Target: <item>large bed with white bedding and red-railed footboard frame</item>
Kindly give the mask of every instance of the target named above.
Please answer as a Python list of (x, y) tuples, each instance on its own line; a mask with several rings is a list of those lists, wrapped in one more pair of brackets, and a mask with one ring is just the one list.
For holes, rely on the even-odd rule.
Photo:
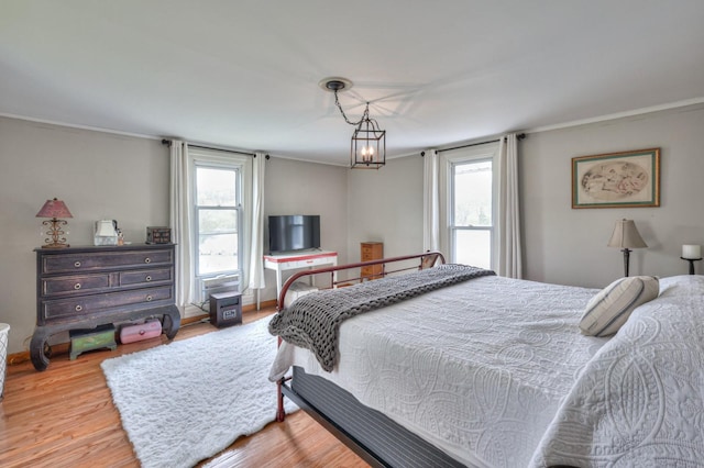
[[(414, 258), (403, 278), (388, 267)], [(375, 281), (400, 282), (448, 268), (429, 258), (315, 274), (382, 263), (391, 275)], [(270, 331), (365, 285), (307, 294)], [(661, 278), (609, 337), (579, 330), (598, 292), (476, 276), (350, 314), (332, 364), (279, 339), (270, 378), (372, 466), (704, 466), (704, 277)]]

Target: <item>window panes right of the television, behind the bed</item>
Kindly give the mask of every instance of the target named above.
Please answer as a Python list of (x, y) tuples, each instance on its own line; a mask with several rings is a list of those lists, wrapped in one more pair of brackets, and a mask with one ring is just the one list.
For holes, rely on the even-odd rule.
[(494, 232), (492, 160), (454, 163), (450, 237), (452, 261), (492, 267)]

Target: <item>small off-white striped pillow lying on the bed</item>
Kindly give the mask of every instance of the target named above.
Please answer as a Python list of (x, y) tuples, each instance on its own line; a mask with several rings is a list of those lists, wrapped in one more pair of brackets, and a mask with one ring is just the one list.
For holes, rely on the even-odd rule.
[(584, 335), (613, 335), (626, 323), (634, 309), (653, 300), (659, 292), (660, 283), (652, 276), (617, 279), (586, 304), (580, 330)]

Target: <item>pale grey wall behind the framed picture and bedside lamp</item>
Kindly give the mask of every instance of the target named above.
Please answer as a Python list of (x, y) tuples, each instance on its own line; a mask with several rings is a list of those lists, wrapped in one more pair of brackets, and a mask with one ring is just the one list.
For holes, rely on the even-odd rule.
[[(623, 276), (623, 254), (606, 246), (622, 218), (648, 244), (630, 254), (631, 276), (686, 274), (682, 244), (704, 245), (702, 130), (704, 107), (695, 105), (529, 134), (519, 153), (526, 277), (603, 287)], [(571, 208), (572, 157), (650, 147), (661, 148), (659, 208)]]

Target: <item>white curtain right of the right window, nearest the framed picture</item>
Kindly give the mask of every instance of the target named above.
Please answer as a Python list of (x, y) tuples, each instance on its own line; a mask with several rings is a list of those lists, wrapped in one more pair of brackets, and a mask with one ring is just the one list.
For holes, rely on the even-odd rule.
[(498, 146), (498, 271), (521, 278), (520, 214), (518, 204), (518, 145), (516, 134), (501, 138)]

